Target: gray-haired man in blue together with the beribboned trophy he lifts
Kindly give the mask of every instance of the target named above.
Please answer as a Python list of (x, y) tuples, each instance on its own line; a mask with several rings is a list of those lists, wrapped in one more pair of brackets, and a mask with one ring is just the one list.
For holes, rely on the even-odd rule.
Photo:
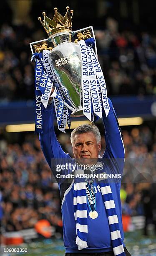
[[(123, 242), (120, 201), (124, 146), (115, 110), (107, 98), (96, 43), (90, 30), (84, 29), (73, 42), (73, 10), (69, 12), (67, 7), (64, 17), (54, 10), (53, 20), (45, 12), (43, 21), (38, 18), (49, 39), (42, 46), (35, 45), (32, 57), (36, 63), (35, 131), (40, 133), (41, 148), (60, 189), (65, 255), (130, 255)], [(101, 118), (106, 140), (103, 157), (98, 155), (100, 132), (96, 125), (88, 124), (71, 133), (74, 159), (65, 154), (55, 135), (54, 110), (62, 132), (66, 123), (70, 128), (70, 116), (85, 115), (90, 121)], [(57, 163), (60, 169), (63, 166), (59, 178)], [(116, 181), (105, 174), (113, 174)]]

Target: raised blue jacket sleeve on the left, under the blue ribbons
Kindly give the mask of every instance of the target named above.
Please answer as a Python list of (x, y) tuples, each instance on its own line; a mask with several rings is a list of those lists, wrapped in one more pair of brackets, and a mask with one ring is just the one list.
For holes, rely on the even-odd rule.
[[(69, 154), (66, 154), (58, 142), (54, 131), (54, 115), (53, 107), (48, 106), (43, 109), (43, 133), (40, 133), (40, 145), (49, 166), (55, 172), (55, 168), (51, 166), (52, 159), (71, 159)], [(54, 173), (55, 176), (55, 173)]]

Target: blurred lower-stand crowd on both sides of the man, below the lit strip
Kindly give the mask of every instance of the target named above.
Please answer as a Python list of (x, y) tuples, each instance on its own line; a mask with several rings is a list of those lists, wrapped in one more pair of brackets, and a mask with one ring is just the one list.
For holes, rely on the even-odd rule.
[[(124, 130), (123, 136), (126, 150), (121, 186), (123, 214), (147, 215), (147, 223), (152, 222), (156, 211), (156, 131), (152, 133), (143, 126)], [(63, 150), (73, 156), (70, 133), (61, 133), (58, 141)], [(102, 156), (104, 136), (101, 144)], [(21, 145), (0, 141), (0, 216), (5, 230), (33, 228), (41, 219), (48, 220), (60, 230), (60, 195), (58, 185), (51, 181), (54, 180), (38, 136), (26, 135)]]

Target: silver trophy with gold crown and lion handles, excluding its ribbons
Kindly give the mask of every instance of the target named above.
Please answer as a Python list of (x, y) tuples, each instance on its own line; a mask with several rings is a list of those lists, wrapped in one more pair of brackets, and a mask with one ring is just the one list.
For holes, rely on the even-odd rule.
[[(49, 64), (55, 74), (64, 104), (72, 110), (71, 117), (79, 117), (83, 115), (83, 106), (81, 51), (78, 41), (94, 37), (94, 33), (92, 26), (72, 32), (73, 10), (69, 12), (69, 7), (66, 9), (67, 12), (63, 17), (58, 13), (58, 9), (55, 8), (53, 20), (48, 18), (45, 12), (43, 12), (44, 20), (41, 21), (40, 17), (38, 20), (40, 20), (45, 28), (49, 38), (44, 41), (30, 43), (30, 47), (33, 53), (33, 46), (36, 52), (50, 50), (48, 54)], [(36, 43), (42, 43), (42, 45)]]

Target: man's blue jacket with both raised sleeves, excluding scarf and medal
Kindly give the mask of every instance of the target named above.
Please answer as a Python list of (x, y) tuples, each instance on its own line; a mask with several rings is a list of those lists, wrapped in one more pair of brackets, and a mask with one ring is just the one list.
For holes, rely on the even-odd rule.
[[(118, 126), (116, 113), (113, 109), (113, 105), (109, 100), (110, 111), (106, 117), (103, 113), (103, 124), (105, 127), (105, 140), (106, 150), (102, 159), (120, 159), (113, 164), (108, 164), (109, 172), (123, 173), (124, 163), (124, 146), (121, 136), (121, 131)], [(73, 162), (74, 160), (66, 154), (61, 148), (54, 131), (53, 125), (53, 107), (48, 106), (47, 110), (43, 110), (43, 133), (40, 133), (40, 144), (43, 150), (45, 159), (47, 160), (50, 168), (52, 167), (53, 174), (56, 176), (56, 169), (51, 166), (51, 159), (64, 159), (64, 161)], [(113, 162), (113, 161), (112, 161)], [(98, 212), (98, 218), (88, 218), (88, 248), (83, 249), (81, 253), (94, 253), (112, 251), (111, 236), (108, 224), (108, 217), (106, 215), (105, 205), (103, 203), (102, 195), (97, 184), (95, 185), (96, 193), (96, 211)], [(118, 215), (119, 228), (121, 233), (121, 240), (123, 242), (123, 226), (121, 219), (121, 200), (120, 200), (120, 182), (110, 183), (113, 200), (116, 205), (116, 212)], [(80, 253), (78, 246), (75, 244), (76, 240), (76, 228), (74, 219), (74, 206), (73, 206), (73, 192), (74, 184), (72, 180), (70, 183), (59, 182), (60, 196), (62, 202), (62, 219), (63, 219), (63, 237), (66, 253)], [(88, 213), (90, 208), (88, 207)], [(124, 243), (123, 243), (123, 246)]]

